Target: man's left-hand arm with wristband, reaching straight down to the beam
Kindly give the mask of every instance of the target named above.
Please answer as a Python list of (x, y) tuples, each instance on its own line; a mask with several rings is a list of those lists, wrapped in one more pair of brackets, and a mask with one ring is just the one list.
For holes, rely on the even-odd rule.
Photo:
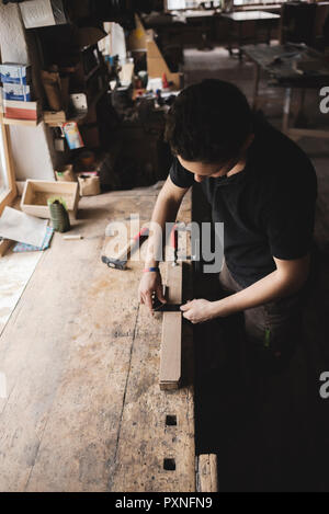
[[(188, 191), (189, 187), (178, 187), (168, 176), (159, 193), (151, 217), (145, 269), (158, 266), (157, 252), (164, 243), (166, 224), (175, 221), (178, 210)], [(159, 227), (161, 230), (152, 230), (152, 227)], [(139, 284), (138, 297), (140, 304), (147, 305), (150, 311), (152, 311), (152, 293), (156, 293), (159, 300), (164, 301), (161, 275), (157, 272), (144, 273)]]

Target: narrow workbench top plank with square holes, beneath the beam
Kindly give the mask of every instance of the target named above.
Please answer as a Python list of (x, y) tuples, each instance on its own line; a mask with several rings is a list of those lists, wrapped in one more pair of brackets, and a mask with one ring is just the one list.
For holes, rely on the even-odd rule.
[(157, 323), (140, 308), (111, 491), (195, 492), (193, 331), (183, 327), (182, 386), (163, 395), (158, 386), (162, 315), (155, 318)]

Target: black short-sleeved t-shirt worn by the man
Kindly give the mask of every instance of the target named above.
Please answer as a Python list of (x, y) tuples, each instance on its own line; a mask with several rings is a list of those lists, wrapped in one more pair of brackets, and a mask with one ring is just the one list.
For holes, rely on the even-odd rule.
[[(317, 180), (307, 156), (264, 121), (254, 122), (245, 170), (202, 183), (213, 221), (224, 222), (224, 253), (234, 278), (247, 287), (282, 260), (306, 255), (313, 245)], [(174, 159), (172, 182), (190, 187), (194, 175)]]

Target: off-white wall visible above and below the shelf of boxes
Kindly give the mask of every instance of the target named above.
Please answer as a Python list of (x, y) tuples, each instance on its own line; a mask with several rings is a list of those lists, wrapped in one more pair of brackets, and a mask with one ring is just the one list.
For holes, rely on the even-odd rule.
[[(31, 62), (18, 4), (0, 3), (0, 49), (2, 62)], [(44, 123), (37, 127), (10, 126), (10, 138), (16, 180), (54, 179), (53, 137)]]

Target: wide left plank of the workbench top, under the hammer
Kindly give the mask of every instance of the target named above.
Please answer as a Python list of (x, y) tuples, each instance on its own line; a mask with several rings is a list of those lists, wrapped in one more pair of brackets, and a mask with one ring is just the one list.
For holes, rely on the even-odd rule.
[(137, 262), (109, 270), (101, 248), (109, 218), (133, 207), (149, 215), (149, 199), (83, 198), (76, 230), (84, 239), (55, 235), (5, 327), (1, 491), (107, 491), (140, 274)]

